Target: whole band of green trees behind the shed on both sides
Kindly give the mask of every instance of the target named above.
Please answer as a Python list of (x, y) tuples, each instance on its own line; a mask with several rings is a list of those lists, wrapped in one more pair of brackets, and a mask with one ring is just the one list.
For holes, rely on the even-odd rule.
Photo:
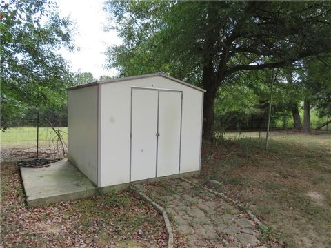
[[(123, 40), (107, 49), (108, 68), (203, 87), (205, 138), (220, 123), (263, 123), (273, 70), (273, 116), (297, 130), (309, 129), (310, 110), (331, 116), (328, 1), (106, 1), (104, 10)], [(66, 88), (95, 80), (57, 52), (74, 50), (72, 35), (54, 3), (1, 2), (1, 129), (37, 110), (66, 125)]]

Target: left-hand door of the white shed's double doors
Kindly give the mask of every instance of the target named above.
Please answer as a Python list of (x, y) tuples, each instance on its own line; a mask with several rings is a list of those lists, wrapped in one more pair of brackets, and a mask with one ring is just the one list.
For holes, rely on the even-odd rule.
[(157, 90), (132, 89), (131, 181), (156, 175), (157, 102)]

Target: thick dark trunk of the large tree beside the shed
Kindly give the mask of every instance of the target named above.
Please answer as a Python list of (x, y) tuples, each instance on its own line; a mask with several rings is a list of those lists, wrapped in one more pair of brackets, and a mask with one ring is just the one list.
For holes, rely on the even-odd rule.
[(211, 64), (203, 68), (202, 84), (206, 90), (203, 96), (203, 138), (210, 141), (214, 136), (214, 106), (218, 89)]

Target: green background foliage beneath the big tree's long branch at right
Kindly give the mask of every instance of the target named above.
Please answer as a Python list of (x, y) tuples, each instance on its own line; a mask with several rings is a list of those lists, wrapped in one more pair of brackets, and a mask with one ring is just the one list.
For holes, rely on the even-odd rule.
[[(326, 57), (328, 58), (328, 57)], [(310, 59), (303, 68), (278, 69), (272, 97), (272, 125), (293, 127), (292, 107), (299, 113), (302, 101), (310, 99), (310, 125), (317, 127), (331, 115), (331, 63), (326, 58)], [(322, 62), (323, 61), (323, 62)], [(217, 130), (260, 127), (268, 120), (271, 70), (241, 72), (231, 84), (219, 89), (215, 103), (215, 127)], [(303, 121), (301, 119), (301, 121)]]

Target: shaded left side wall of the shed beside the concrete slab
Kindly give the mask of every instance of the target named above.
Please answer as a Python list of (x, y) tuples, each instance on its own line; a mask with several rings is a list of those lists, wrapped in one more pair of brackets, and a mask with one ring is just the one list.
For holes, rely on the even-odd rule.
[(98, 86), (68, 91), (68, 160), (97, 185)]

